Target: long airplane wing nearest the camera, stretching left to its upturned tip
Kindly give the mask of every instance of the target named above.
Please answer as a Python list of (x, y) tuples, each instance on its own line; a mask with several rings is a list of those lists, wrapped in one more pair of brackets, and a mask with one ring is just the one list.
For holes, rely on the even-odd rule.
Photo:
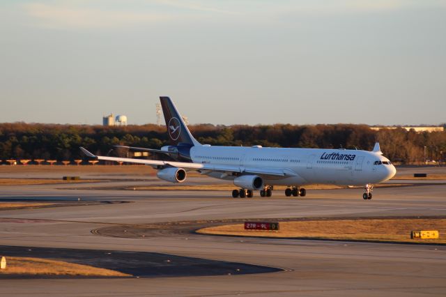
[(154, 168), (160, 167), (181, 167), (183, 169), (190, 170), (200, 170), (203, 172), (226, 172), (226, 173), (251, 173), (251, 174), (259, 174), (261, 176), (275, 176), (276, 178), (280, 177), (288, 177), (288, 176), (296, 176), (294, 172), (291, 172), (289, 169), (278, 169), (278, 168), (243, 168), (229, 165), (213, 165), (213, 164), (201, 164), (201, 163), (190, 163), (190, 162), (175, 162), (175, 161), (161, 161), (161, 160), (144, 160), (144, 159), (133, 159), (133, 158), (117, 158), (117, 157), (107, 157), (103, 155), (93, 155), (85, 148), (81, 147), (82, 153), (84, 153), (89, 158), (95, 158), (97, 160), (106, 160), (106, 161), (116, 161), (116, 162), (128, 162), (134, 164), (144, 164), (150, 165)]

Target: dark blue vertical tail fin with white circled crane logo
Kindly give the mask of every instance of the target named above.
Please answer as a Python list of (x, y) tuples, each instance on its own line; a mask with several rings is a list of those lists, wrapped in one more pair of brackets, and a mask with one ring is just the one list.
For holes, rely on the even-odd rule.
[(164, 120), (166, 121), (167, 132), (171, 139), (171, 144), (189, 144), (190, 146), (199, 146), (200, 143), (190, 134), (189, 129), (181, 118), (174, 102), (169, 97), (160, 97)]

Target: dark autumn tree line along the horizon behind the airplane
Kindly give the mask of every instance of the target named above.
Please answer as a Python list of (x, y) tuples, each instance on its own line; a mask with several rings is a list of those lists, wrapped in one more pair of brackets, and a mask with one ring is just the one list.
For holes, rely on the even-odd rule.
[[(381, 151), (393, 162), (411, 164), (444, 160), (446, 132), (415, 132), (403, 128), (371, 130), (367, 125), (190, 125), (202, 144), (300, 148), (357, 148)], [(82, 158), (79, 146), (96, 154), (116, 154), (115, 145), (160, 148), (169, 145), (164, 125), (56, 125), (0, 123), (0, 159)], [(426, 148), (424, 148), (426, 146)]]

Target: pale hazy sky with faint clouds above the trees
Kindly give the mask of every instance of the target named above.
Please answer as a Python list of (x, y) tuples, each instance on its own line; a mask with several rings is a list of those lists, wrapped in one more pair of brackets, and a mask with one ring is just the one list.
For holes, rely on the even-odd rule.
[(0, 122), (446, 122), (446, 0), (3, 0), (0, 36)]

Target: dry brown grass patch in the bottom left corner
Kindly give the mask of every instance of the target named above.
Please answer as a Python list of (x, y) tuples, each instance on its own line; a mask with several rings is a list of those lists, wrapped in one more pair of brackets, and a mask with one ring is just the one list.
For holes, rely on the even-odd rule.
[(93, 266), (73, 264), (40, 258), (6, 257), (6, 269), (2, 274), (13, 275), (90, 275), (90, 276), (131, 276), (118, 271)]

